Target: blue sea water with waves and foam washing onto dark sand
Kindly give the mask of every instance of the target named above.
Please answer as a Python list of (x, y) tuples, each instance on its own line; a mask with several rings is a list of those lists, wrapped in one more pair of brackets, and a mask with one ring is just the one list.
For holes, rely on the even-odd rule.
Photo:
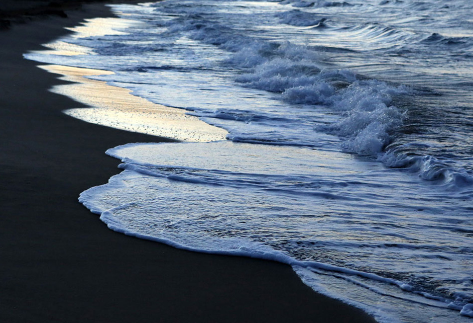
[(114, 72), (90, 78), (228, 135), (107, 151), (123, 171), (80, 201), (109, 228), (287, 263), (379, 322), (471, 322), (473, 2), (112, 8), (60, 40), (80, 55), (25, 57)]

